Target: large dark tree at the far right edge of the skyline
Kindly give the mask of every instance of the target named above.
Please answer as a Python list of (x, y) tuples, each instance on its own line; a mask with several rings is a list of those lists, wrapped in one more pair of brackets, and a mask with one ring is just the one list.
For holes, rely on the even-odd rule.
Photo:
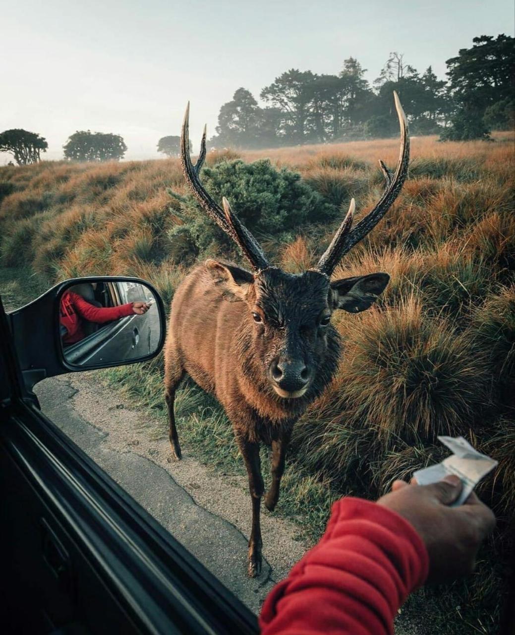
[(450, 122), (452, 130), (445, 131), (443, 140), (488, 137), (486, 109), (514, 95), (514, 44), (515, 38), (504, 34), (495, 39), (474, 37), (472, 48), (462, 48), (457, 57), (447, 60), (450, 95), (457, 108)]

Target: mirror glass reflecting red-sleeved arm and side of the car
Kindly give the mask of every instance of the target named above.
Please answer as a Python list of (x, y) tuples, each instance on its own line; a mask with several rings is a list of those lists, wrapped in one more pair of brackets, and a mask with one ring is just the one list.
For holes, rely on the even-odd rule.
[(140, 282), (84, 281), (60, 299), (63, 355), (74, 366), (139, 359), (155, 352), (161, 324), (152, 291)]

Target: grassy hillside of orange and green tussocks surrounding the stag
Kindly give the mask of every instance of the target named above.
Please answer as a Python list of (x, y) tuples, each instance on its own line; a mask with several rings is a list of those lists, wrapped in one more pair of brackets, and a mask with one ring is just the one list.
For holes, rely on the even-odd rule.
[[(207, 164), (222, 166), (220, 178), (232, 165), (223, 162), (239, 156), (214, 153)], [(306, 213), (298, 231), (280, 236), (261, 227), (267, 253), (288, 271), (315, 264), (339, 224), (340, 206), (346, 210), (355, 196), (358, 218), (367, 213), (382, 189), (377, 159), (394, 166), (397, 156), (396, 140), (242, 153), (245, 162), (270, 157), (274, 166), (297, 171), (329, 210), (323, 219)], [(377, 497), (394, 478), (441, 460), (438, 434), (462, 434), (497, 458), (499, 468), (480, 494), (499, 526), (478, 572), (452, 592), (424, 590), (405, 608), (426, 612), (427, 632), (495, 632), (499, 584), (507, 575), (515, 509), (513, 174), (513, 138), (506, 134), (495, 143), (412, 140), (401, 195), (335, 273), (386, 271), (391, 283), (376, 308), (334, 318), (345, 355), (334, 383), (297, 424), (279, 503), (316, 537), (334, 498)], [(28, 266), (49, 281), (141, 276), (169, 302), (196, 258), (225, 253), (216, 239), (196, 251), (180, 243), (198, 223), (186, 194), (174, 159), (0, 168), (2, 263)], [(152, 433), (166, 434), (162, 360), (105, 375), (160, 413), (162, 427)], [(179, 409), (184, 450), (225, 470), (242, 469), (212, 399), (186, 384)]]

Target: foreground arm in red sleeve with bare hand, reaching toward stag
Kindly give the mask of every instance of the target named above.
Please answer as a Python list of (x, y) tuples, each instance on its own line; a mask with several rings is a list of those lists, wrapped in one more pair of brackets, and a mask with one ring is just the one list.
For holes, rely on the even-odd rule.
[(377, 503), (334, 504), (318, 545), (266, 598), (262, 635), (391, 634), (398, 608), (428, 574), (442, 582), (473, 568), (492, 512), (475, 495), (448, 507), (459, 484), (401, 483)]

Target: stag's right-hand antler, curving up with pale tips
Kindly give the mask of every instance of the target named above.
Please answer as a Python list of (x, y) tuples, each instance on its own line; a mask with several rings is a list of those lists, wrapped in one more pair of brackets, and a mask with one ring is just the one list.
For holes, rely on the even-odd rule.
[(351, 231), (352, 215), (355, 208), (354, 199), (352, 199), (346, 217), (332, 239), (331, 244), (323, 253), (322, 258), (320, 258), (315, 267), (317, 271), (320, 271), (326, 276), (330, 276), (332, 274), (342, 256), (348, 253), (348, 251), (350, 251), (356, 243), (359, 243), (360, 240), (367, 236), (368, 232), (374, 229), (375, 225), (377, 225), (381, 218), (386, 214), (391, 204), (398, 196), (407, 177), (408, 163), (410, 161), (408, 122), (406, 115), (404, 114), (404, 110), (402, 109), (401, 102), (399, 101), (398, 95), (395, 91), (393, 91), (393, 97), (401, 128), (401, 150), (397, 168), (393, 177), (391, 177), (384, 163), (379, 161), (382, 173), (386, 179), (386, 189), (374, 209), (370, 211), (370, 213), (368, 213), (367, 216), (365, 216), (365, 218), (356, 225), (355, 229)]

